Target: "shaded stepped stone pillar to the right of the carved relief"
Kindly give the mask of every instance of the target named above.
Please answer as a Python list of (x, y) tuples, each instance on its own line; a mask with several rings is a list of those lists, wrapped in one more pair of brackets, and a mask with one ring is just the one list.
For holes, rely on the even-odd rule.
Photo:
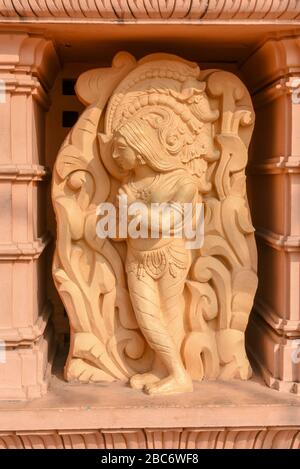
[(269, 386), (300, 393), (300, 37), (270, 38), (242, 72), (256, 111), (248, 177), (259, 288), (249, 352)]

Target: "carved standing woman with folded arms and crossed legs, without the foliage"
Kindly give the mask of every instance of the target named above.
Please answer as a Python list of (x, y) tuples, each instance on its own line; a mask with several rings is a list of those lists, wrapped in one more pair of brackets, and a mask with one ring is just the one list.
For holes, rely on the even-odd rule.
[[(143, 202), (151, 217), (151, 204), (195, 205), (196, 181), (187, 169), (167, 155), (156, 132), (143, 119), (132, 119), (114, 136), (113, 158), (130, 172), (120, 195), (129, 204)], [(183, 238), (162, 236), (163, 214), (159, 213), (159, 237), (127, 239), (128, 288), (139, 328), (155, 353), (152, 370), (130, 379), (134, 388), (149, 394), (192, 390), (192, 381), (180, 355), (184, 337), (183, 289), (190, 267), (190, 252)], [(174, 224), (174, 220), (173, 220)], [(150, 230), (149, 230), (150, 231)]]

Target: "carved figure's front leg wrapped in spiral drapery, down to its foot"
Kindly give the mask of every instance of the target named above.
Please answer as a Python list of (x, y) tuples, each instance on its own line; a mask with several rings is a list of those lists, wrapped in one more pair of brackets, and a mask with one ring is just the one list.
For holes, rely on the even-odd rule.
[[(138, 279), (134, 273), (129, 273), (128, 285), (141, 332), (168, 372), (166, 378), (154, 384), (145, 384), (145, 391), (149, 394), (192, 391), (192, 381), (184, 369), (178, 347), (166, 327), (157, 282), (146, 274)], [(152, 380), (150, 376), (147, 376), (148, 379)]]

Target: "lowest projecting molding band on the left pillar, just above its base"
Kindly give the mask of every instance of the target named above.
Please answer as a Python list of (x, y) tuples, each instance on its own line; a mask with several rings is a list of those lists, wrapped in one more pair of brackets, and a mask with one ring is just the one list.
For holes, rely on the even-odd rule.
[(35, 324), (28, 325), (27, 327), (0, 328), (0, 339), (5, 341), (6, 347), (30, 345), (44, 334), (52, 311), (52, 304), (50, 301), (47, 301)]

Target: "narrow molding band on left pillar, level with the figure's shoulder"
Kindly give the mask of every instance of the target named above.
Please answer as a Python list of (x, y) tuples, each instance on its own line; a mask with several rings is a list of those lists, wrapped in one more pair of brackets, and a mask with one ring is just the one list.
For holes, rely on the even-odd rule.
[(37, 164), (2, 164), (0, 180), (6, 181), (42, 181), (49, 176), (46, 166)]

